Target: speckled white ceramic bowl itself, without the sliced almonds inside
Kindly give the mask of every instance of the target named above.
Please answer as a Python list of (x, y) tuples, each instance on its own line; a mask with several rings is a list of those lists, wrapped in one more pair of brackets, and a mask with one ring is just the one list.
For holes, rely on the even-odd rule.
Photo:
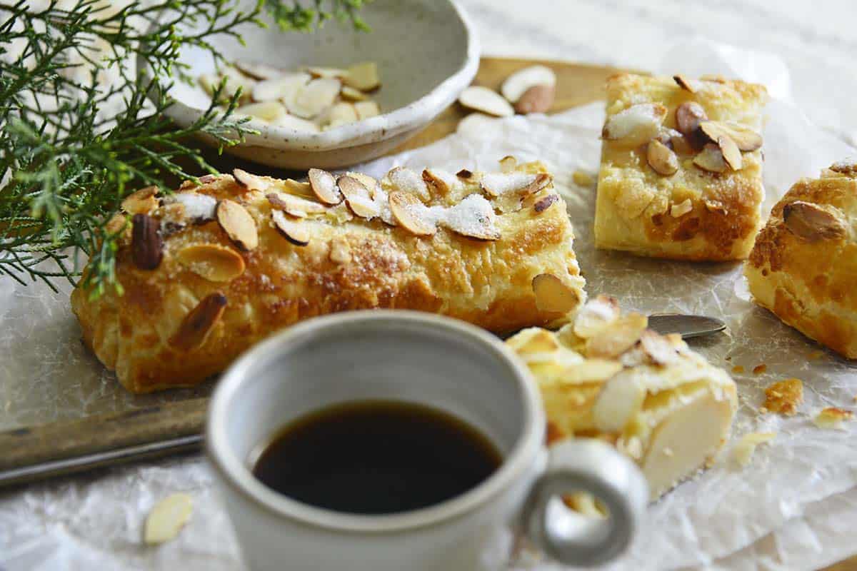
[[(375, 0), (361, 13), (372, 28), (356, 32), (328, 21), (316, 33), (281, 33), (276, 26), (243, 28), (247, 45), (230, 38), (213, 44), (232, 61), (261, 62), (293, 69), (303, 65), (345, 68), (377, 62), (381, 89), (373, 95), (381, 116), (322, 133), (254, 123), (249, 134), (227, 147), (238, 157), (288, 169), (339, 168), (390, 152), (425, 127), (470, 84), (479, 66), (479, 46), (470, 22), (452, 0)], [(207, 52), (185, 49), (180, 60), (193, 77), (212, 73)], [(210, 98), (199, 86), (177, 83), (167, 115), (186, 126), (201, 115)]]

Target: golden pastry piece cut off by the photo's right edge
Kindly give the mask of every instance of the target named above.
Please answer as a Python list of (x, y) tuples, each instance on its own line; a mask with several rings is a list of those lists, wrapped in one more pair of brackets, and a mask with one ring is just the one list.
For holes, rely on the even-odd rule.
[(744, 273), (758, 305), (857, 359), (857, 160), (797, 181), (770, 212)]

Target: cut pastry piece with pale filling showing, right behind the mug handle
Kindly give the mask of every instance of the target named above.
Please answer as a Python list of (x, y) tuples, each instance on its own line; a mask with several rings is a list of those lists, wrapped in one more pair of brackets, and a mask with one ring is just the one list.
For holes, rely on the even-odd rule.
[(548, 415), (548, 443), (592, 437), (637, 461), (660, 497), (706, 466), (726, 441), (735, 384), (678, 335), (590, 300), (557, 333), (530, 328), (506, 343), (530, 367)]

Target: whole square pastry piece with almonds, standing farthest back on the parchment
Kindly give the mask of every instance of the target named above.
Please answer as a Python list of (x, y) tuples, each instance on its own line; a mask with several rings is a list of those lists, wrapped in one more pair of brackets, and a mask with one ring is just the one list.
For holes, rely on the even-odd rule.
[(680, 75), (607, 83), (596, 247), (744, 259), (761, 225), (764, 86)]

